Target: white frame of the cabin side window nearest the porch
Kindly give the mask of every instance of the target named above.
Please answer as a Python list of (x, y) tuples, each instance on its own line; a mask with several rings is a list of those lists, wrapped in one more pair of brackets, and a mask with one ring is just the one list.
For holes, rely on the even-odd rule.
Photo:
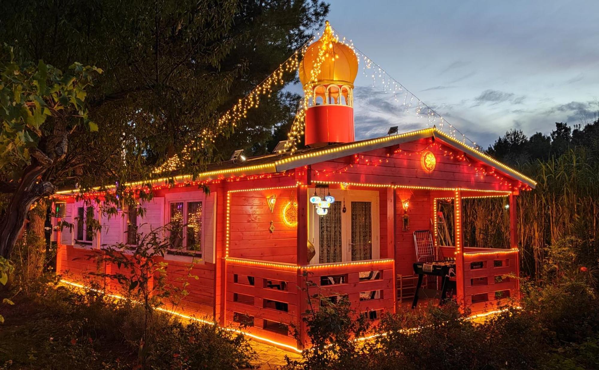
[[(170, 193), (165, 195), (165, 212), (164, 212), (164, 225), (167, 225), (168, 223), (171, 222), (171, 203), (183, 203), (183, 225), (186, 224), (186, 218), (187, 218), (187, 204), (191, 203), (191, 202), (201, 202), (202, 203), (202, 230), (201, 230), (201, 251), (197, 252), (197, 251), (186, 251), (186, 248), (183, 248), (181, 250), (177, 250), (175, 248), (169, 248), (169, 252), (168, 255), (170, 256), (169, 259), (174, 259), (174, 260), (188, 260), (189, 258), (193, 258), (194, 260), (197, 259), (204, 259), (204, 255), (205, 255), (205, 248), (206, 246), (204, 245), (204, 232), (205, 232), (205, 220), (206, 220), (206, 212), (205, 212), (205, 203), (206, 203), (206, 196), (204, 194), (204, 192), (201, 191), (197, 191), (197, 192), (180, 192), (180, 193)], [(214, 215), (213, 215), (214, 217)], [(215, 222), (216, 223), (216, 222)], [(187, 226), (183, 227), (183, 245), (186, 244), (187, 242)], [(167, 235), (167, 238), (170, 238), (170, 232), (169, 235)], [(173, 253), (173, 252), (177, 252), (177, 253)]]

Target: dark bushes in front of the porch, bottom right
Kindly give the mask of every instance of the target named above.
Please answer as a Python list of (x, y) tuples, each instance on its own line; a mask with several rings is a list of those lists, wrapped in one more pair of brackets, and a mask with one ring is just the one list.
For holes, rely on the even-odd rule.
[[(374, 339), (354, 341), (365, 326), (349, 302), (326, 301), (305, 320), (317, 344), (304, 369), (595, 369), (599, 368), (599, 299), (589, 242), (564, 238), (547, 247), (537, 281), (522, 280), (523, 298), (484, 319), (467, 319), (455, 302), (386, 314)], [(512, 302), (506, 302), (512, 303)]]

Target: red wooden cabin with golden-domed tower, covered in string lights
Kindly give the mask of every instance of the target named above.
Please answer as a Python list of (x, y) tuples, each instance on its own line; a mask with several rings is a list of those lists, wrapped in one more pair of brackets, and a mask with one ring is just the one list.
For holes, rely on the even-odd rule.
[[(436, 128), (354, 141), (353, 51), (332, 43), (340, 56), (335, 65), (325, 61), (312, 80), (305, 74), (327, 41), (312, 44), (299, 68), (304, 89), (313, 94), (307, 148), (214, 163), (194, 180), (175, 177), (174, 185), (153, 180), (144, 217), (122, 210), (108, 218), (97, 204), (59, 192), (63, 219), (75, 225), (56, 232), (63, 278), (83, 281), (90, 271), (117, 271), (86, 256), (102, 253), (103, 245), (134, 243), (131, 225), (147, 232), (179, 223), (180, 231), (168, 236), (168, 278), (198, 278), (188, 280), (189, 295), (175, 309), (222, 326), (244, 323), (257, 338), (301, 349), (309, 345), (302, 316), (318, 307), (308, 292), (345, 295), (356, 313), (373, 320), (385, 311), (409, 310), (398, 302), (400, 288), (415, 276), (414, 232), (429, 231), (435, 257), (455, 259), (454, 298), (464, 310), (482, 313), (500, 296), (517, 299), (518, 281), (501, 277), (518, 274), (515, 199), (535, 182)], [(509, 199), (510, 247), (464, 247), (462, 199), (498, 196)], [(453, 204), (452, 246), (440, 245), (438, 235), (438, 202), (447, 199)], [(100, 232), (88, 233), (87, 207), (94, 207)], [(119, 290), (115, 281), (103, 283), (108, 292)], [(298, 339), (291, 326), (300, 328)]]

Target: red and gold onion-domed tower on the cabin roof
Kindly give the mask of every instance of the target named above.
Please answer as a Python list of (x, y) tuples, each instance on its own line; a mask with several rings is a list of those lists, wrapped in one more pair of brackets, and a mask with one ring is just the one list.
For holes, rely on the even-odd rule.
[(305, 145), (354, 141), (353, 81), (357, 74), (356, 54), (334, 37), (326, 21), (322, 37), (308, 46), (299, 63), (299, 80), (307, 98)]

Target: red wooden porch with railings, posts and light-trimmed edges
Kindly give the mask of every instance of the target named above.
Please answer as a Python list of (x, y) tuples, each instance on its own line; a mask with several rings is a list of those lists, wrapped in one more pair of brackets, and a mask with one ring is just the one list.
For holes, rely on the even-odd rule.
[[(510, 222), (515, 222), (513, 192), (333, 183), (328, 184), (326, 191), (334, 195), (335, 202), (340, 202), (337, 210), (341, 210), (342, 219), (347, 212), (354, 217), (346, 217), (338, 225), (322, 221), (331, 214), (314, 217), (314, 205), (309, 201), (318, 192), (314, 186), (300, 184), (259, 189), (258, 193), (253, 190), (228, 193), (223, 324), (243, 326), (246, 332), (286, 347), (304, 348), (309, 343), (302, 317), (307, 310), (318, 310), (320, 305), (314, 295), (332, 299), (346, 296), (356, 314), (365, 315), (373, 323), (384, 312), (410, 309), (401, 304), (412, 301), (412, 297), (407, 299), (404, 295), (402, 279), (417, 276), (413, 264), (419, 256), (413, 231), (423, 229), (431, 232), (434, 260), (455, 260), (453, 296), (464, 310), (482, 313), (496, 307), (500, 299), (518, 298), (518, 281), (505, 277), (518, 275), (517, 248), (463, 247), (461, 235), (462, 198), (505, 197), (511, 206)], [(268, 199), (276, 199), (273, 208)], [(440, 245), (440, 199), (451, 199), (453, 204), (452, 244), (455, 245)], [(352, 213), (352, 202), (370, 202), (370, 205)], [(295, 223), (286, 219), (290, 203), (292, 207), (297, 205)], [(369, 210), (366, 213), (365, 208)], [(358, 214), (360, 217), (367, 214), (369, 220), (356, 221)], [(367, 253), (352, 250), (357, 244), (352, 241), (358, 233), (352, 233), (351, 225), (356, 223), (371, 225)], [(321, 226), (326, 226), (326, 232)], [(332, 232), (340, 236), (332, 238)], [(334, 249), (329, 243), (331, 239), (337, 241), (334, 247), (338, 253), (331, 253)], [(516, 245), (515, 240), (515, 235), (510, 235), (510, 243), (514, 242), (510, 245)], [(313, 252), (304, 247), (310, 244), (314, 246)], [(331, 258), (337, 260), (331, 262)], [(431, 282), (429, 287), (434, 289)]]

